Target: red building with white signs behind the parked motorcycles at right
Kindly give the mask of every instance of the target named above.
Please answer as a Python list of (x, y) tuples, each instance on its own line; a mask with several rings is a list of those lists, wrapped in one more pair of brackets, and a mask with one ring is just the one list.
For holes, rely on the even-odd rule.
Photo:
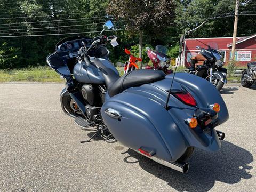
[[(186, 39), (185, 49), (183, 48), (185, 66), (190, 66), (190, 58), (198, 54), (199, 51), (196, 50), (196, 46), (207, 48), (209, 42), (218, 44), (219, 50), (223, 55), (223, 61), (227, 63), (231, 58), (232, 41), (232, 37)], [(239, 62), (240, 66), (247, 65), (250, 61), (256, 61), (256, 34), (250, 37), (237, 37), (235, 60)]]

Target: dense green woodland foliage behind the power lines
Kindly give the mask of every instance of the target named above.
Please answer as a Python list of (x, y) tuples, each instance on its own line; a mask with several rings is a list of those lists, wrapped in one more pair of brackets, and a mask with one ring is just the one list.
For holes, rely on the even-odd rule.
[[(255, 1), (241, 0), (240, 13), (256, 11)], [(71, 35), (13, 37), (15, 35), (41, 35), (81, 33), (94, 37), (108, 18), (113, 15), (117, 29), (125, 31), (106, 35), (118, 36), (119, 46), (111, 47), (110, 60), (125, 62), (128, 57), (125, 47), (139, 53), (139, 33), (143, 31), (143, 44), (155, 47), (158, 44), (169, 47), (171, 58), (178, 56), (179, 37), (184, 29), (193, 29), (205, 18), (234, 14), (234, 0), (0, 0), (0, 68), (12, 69), (31, 66), (45, 66), (45, 58), (54, 52), (55, 44)], [(93, 17), (94, 19), (87, 19)], [(8, 19), (7, 19), (8, 18)], [(84, 18), (84, 19), (81, 19)], [(71, 19), (71, 20), (70, 20)], [(73, 20), (79, 19), (79, 20)], [(49, 22), (65, 20), (58, 22)], [(255, 34), (256, 16), (239, 15), (238, 36)], [(233, 17), (209, 19), (204, 26), (187, 35), (187, 38), (227, 37), (233, 34)], [(73, 26), (74, 25), (74, 26)], [(71, 26), (71, 27), (70, 27)], [(7, 43), (6, 43), (7, 42)], [(144, 63), (149, 61), (142, 51)]]

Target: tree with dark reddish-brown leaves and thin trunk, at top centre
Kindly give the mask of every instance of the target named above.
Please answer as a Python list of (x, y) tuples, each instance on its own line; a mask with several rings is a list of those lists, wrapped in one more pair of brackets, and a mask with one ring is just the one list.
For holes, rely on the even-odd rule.
[(124, 20), (131, 34), (139, 33), (139, 57), (142, 57), (143, 34), (164, 33), (162, 28), (174, 19), (175, 6), (174, 0), (110, 0), (107, 13)]

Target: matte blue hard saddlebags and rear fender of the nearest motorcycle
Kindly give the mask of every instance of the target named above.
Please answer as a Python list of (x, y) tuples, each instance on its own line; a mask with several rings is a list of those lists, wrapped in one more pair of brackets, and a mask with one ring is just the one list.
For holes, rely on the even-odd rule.
[(201, 127), (191, 129), (185, 123), (197, 108), (207, 108), (213, 103), (221, 106), (218, 124), (227, 121), (228, 110), (219, 91), (201, 77), (177, 73), (172, 89), (189, 91), (197, 107), (188, 106), (171, 95), (170, 109), (166, 110), (166, 90), (170, 89), (172, 78), (173, 74), (170, 74), (161, 81), (131, 87), (108, 97), (101, 115), (110, 132), (125, 146), (134, 150), (146, 148), (153, 151), (155, 157), (168, 162), (177, 161), (190, 146), (207, 151), (220, 149), (215, 129), (204, 133)]

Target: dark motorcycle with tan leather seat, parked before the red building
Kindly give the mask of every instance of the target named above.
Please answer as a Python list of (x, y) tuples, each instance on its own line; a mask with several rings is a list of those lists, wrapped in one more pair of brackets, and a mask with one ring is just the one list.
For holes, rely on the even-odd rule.
[(224, 83), (227, 83), (227, 69), (222, 67), (224, 62), (217, 43), (210, 42), (208, 49), (199, 46), (196, 49), (200, 52), (199, 55), (191, 57), (192, 66), (189, 68), (189, 73), (207, 79), (221, 90)]

